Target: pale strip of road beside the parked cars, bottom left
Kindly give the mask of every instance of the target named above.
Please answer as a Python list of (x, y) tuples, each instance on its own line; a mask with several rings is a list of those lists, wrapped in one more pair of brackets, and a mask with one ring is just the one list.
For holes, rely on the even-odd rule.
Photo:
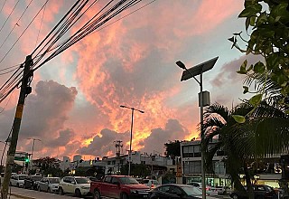
[[(23, 188), (18, 188), (18, 187), (11, 187), (11, 195), (14, 197), (12, 198), (27, 198), (27, 199), (64, 199), (64, 198), (74, 198), (73, 195), (60, 195), (60, 194), (51, 194), (51, 193), (46, 193), (46, 192), (39, 192), (39, 191), (34, 191), (34, 190), (29, 190), (29, 189), (23, 189)], [(18, 197), (17, 197), (18, 196)], [(22, 196), (22, 197), (21, 197)], [(86, 199), (91, 199), (92, 197), (81, 197), (81, 198), (86, 198)]]

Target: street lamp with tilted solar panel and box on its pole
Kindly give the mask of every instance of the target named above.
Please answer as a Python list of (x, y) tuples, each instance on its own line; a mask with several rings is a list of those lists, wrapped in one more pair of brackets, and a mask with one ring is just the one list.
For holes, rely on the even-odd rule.
[[(201, 152), (201, 184), (202, 184), (202, 199), (206, 199), (206, 182), (205, 182), (205, 169), (204, 169), (204, 162), (205, 162), (205, 154), (204, 154), (204, 148), (202, 147), (202, 139), (204, 137), (203, 132), (203, 107), (206, 105), (210, 105), (210, 96), (208, 91), (202, 91), (202, 73), (205, 71), (210, 71), (215, 63), (217, 62), (219, 57), (215, 57), (207, 62), (202, 62), (194, 67), (191, 67), (190, 69), (187, 69), (184, 63), (181, 61), (175, 62), (180, 68), (182, 68), (184, 71), (182, 72), (182, 79), (181, 81), (186, 81), (191, 78), (193, 78), (195, 81), (197, 81), (200, 85), (200, 93), (199, 93), (199, 107), (200, 107), (200, 152)], [(196, 79), (196, 75), (200, 75), (200, 81)], [(208, 101), (204, 101), (208, 100)], [(209, 103), (207, 103), (209, 102)]]

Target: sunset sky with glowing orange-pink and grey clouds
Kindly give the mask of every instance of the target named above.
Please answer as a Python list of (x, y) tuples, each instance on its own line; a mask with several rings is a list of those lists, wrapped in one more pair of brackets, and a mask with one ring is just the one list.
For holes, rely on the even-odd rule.
[[(75, 1), (48, 1), (25, 33), (46, 1), (17, 2), (0, 2), (0, 70), (24, 62)], [(99, 0), (69, 34), (106, 2)], [(144, 0), (125, 14), (149, 2)], [(122, 140), (126, 154), (131, 110), (120, 105), (144, 110), (135, 112), (133, 150), (163, 154), (169, 140), (198, 137), (200, 87), (193, 79), (181, 82), (182, 69), (175, 62), (181, 60), (191, 68), (219, 56), (203, 75), (211, 103), (230, 109), (247, 98), (242, 94), (243, 77), (236, 71), (245, 59), (256, 62), (256, 58), (245, 57), (228, 42), (233, 33), (244, 32), (244, 20), (238, 19), (243, 4), (243, 0), (156, 0), (85, 37), (34, 72), (17, 150), (31, 153), (33, 142), (27, 138), (34, 137), (42, 140), (35, 141), (34, 157), (80, 154), (89, 159), (115, 156), (114, 141)], [(0, 75), (1, 85), (11, 74)], [(0, 140), (10, 132), (18, 96), (15, 90), (0, 104)]]

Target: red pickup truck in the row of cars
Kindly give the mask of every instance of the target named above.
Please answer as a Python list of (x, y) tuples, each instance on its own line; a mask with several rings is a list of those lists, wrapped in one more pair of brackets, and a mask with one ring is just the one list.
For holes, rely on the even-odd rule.
[(128, 175), (107, 175), (101, 181), (90, 183), (90, 193), (95, 199), (110, 197), (119, 199), (148, 198), (150, 188), (139, 184)]

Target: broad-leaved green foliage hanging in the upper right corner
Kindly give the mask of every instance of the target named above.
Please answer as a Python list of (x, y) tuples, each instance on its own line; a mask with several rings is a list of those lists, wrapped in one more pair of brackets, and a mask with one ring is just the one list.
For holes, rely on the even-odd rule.
[[(256, 107), (261, 100), (270, 96), (272, 92), (266, 88), (275, 85), (281, 98), (280, 104), (289, 113), (289, 5), (287, 0), (245, 0), (245, 8), (238, 15), (246, 18), (246, 31), (249, 40), (245, 40), (241, 33), (234, 33), (228, 40), (232, 48), (237, 48), (246, 54), (261, 55), (264, 62), (247, 65), (247, 61), (240, 66), (238, 73), (247, 75), (249, 82), (256, 82), (255, 95), (248, 100)], [(246, 49), (238, 45), (238, 39), (247, 44)], [(260, 78), (263, 80), (260, 81)], [(268, 81), (270, 82), (268, 84)], [(244, 93), (249, 92), (248, 85), (244, 86)], [(271, 90), (272, 91), (272, 90)], [(274, 92), (275, 93), (275, 92)], [(251, 112), (248, 113), (248, 115)], [(245, 117), (236, 116), (236, 121), (244, 123)]]

